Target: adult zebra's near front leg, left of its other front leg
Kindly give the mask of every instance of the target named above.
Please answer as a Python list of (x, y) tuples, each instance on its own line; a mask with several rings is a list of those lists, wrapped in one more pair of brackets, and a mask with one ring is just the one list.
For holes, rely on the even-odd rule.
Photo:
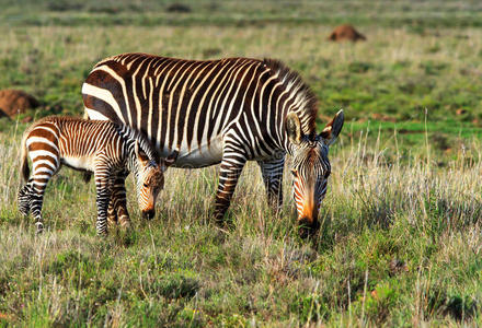
[(241, 172), (246, 163), (246, 157), (242, 152), (226, 152), (219, 172), (219, 185), (216, 192), (215, 220), (218, 224), (222, 224), (226, 211), (231, 202), (234, 194), (236, 185)]

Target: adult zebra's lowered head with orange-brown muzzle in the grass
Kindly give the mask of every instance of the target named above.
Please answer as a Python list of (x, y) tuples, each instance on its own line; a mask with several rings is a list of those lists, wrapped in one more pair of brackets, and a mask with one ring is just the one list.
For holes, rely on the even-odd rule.
[(286, 131), (292, 155), (292, 194), (301, 236), (319, 229), (318, 213), (331, 173), (329, 148), (340, 134), (343, 121), (343, 110), (340, 110), (320, 134), (307, 136), (302, 132), (300, 118), (296, 113), (289, 113), (286, 117)]

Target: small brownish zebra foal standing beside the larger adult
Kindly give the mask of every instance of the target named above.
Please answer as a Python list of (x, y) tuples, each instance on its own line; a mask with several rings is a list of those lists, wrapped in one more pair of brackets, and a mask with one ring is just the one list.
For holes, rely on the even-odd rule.
[[(107, 209), (116, 179), (134, 173), (142, 216), (152, 218), (156, 198), (164, 185), (163, 173), (176, 157), (173, 153), (160, 160), (149, 141), (127, 126), (59, 116), (34, 122), (23, 134), (21, 148), (21, 171), (26, 185), (19, 191), (19, 211), (25, 215), (32, 212), (37, 233), (44, 227), (42, 206), (45, 188), (62, 164), (93, 172), (96, 231), (99, 235), (105, 235)], [(33, 166), (30, 178), (28, 156)], [(120, 223), (128, 226), (128, 215), (125, 219)]]

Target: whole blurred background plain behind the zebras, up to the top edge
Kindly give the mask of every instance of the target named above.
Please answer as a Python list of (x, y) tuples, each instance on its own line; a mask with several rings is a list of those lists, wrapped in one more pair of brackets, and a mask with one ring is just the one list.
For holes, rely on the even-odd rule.
[[(41, 101), (26, 116), (81, 114), (89, 71), (119, 52), (273, 57), (314, 90), (320, 125), (344, 108), (352, 133), (399, 131), (410, 148), (428, 131), (440, 151), (482, 136), (480, 1), (1, 2), (0, 89)], [(367, 40), (329, 42), (343, 23)]]

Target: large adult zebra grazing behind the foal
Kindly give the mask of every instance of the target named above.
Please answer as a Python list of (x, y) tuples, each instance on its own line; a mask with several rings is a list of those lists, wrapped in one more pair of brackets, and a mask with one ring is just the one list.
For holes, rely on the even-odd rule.
[[(96, 63), (82, 95), (89, 118), (145, 132), (161, 155), (179, 152), (174, 166), (220, 163), (218, 221), (246, 161), (257, 161), (268, 200), (278, 208), (285, 154), (289, 153), (298, 220), (309, 229), (318, 227), (331, 169), (329, 147), (343, 127), (343, 110), (317, 134), (314, 95), (280, 61), (197, 61), (124, 54)], [(123, 186), (122, 181), (116, 185)]]

